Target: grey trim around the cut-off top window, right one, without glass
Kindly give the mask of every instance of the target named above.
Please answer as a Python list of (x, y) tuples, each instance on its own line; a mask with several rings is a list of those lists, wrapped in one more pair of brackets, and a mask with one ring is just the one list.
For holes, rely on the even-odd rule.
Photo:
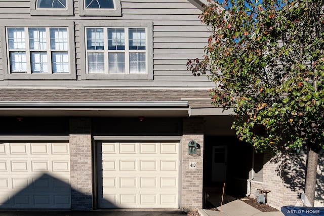
[(85, 0), (78, 0), (79, 16), (121, 16), (120, 0), (113, 0), (114, 9), (85, 9)]

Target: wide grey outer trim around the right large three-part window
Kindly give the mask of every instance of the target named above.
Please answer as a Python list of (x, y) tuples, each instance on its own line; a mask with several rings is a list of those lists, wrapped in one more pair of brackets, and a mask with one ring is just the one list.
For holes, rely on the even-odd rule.
[[(147, 74), (88, 74), (86, 63), (86, 28), (146, 28), (147, 29)], [(153, 80), (153, 23), (150, 21), (84, 21), (79, 24), (80, 68), (82, 80)]]

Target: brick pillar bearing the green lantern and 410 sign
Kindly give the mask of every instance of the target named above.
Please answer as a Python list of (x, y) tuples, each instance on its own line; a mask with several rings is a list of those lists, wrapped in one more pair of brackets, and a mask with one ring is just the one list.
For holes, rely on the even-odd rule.
[[(182, 210), (189, 211), (203, 207), (203, 118), (185, 118), (182, 135)], [(200, 156), (188, 155), (188, 143), (196, 141), (200, 145)], [(189, 163), (195, 162), (195, 168)]]

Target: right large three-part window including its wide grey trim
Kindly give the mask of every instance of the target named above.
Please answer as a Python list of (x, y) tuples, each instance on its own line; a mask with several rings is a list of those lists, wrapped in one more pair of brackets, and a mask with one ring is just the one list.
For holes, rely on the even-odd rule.
[(79, 29), (85, 59), (80, 61), (81, 79), (153, 79), (152, 22), (89, 20), (80, 22)]

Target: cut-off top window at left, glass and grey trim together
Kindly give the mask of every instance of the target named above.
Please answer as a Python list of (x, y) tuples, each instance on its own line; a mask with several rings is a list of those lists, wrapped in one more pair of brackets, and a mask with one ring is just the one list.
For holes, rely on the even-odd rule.
[(30, 14), (42, 16), (72, 16), (72, 0), (31, 0)]

